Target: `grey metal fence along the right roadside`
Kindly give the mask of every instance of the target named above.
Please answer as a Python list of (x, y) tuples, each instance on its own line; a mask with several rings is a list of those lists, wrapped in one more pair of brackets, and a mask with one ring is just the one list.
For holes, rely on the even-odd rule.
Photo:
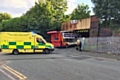
[(83, 50), (120, 54), (120, 37), (85, 38)]

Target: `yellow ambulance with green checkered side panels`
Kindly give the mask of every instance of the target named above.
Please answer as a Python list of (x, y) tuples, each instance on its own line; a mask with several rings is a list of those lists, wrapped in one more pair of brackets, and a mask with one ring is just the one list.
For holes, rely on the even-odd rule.
[(51, 53), (54, 46), (33, 32), (0, 32), (0, 51), (2, 53)]

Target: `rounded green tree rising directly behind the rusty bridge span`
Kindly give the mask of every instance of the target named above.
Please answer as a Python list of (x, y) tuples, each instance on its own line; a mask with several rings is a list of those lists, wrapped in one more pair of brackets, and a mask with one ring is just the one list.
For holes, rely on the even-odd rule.
[(79, 4), (71, 14), (71, 20), (81, 20), (90, 17), (90, 10), (88, 5)]

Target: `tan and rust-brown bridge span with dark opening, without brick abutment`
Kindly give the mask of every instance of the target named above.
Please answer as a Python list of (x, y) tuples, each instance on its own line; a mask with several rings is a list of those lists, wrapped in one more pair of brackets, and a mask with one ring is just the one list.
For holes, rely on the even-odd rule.
[(72, 20), (71, 22), (62, 23), (62, 31), (72, 31), (78, 36), (89, 37), (90, 18), (82, 20)]

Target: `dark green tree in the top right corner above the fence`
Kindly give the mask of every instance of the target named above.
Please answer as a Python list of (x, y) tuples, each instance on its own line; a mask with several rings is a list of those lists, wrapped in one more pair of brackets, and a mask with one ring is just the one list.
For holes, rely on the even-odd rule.
[(91, 0), (94, 13), (100, 19), (101, 26), (118, 28), (120, 26), (120, 0)]

